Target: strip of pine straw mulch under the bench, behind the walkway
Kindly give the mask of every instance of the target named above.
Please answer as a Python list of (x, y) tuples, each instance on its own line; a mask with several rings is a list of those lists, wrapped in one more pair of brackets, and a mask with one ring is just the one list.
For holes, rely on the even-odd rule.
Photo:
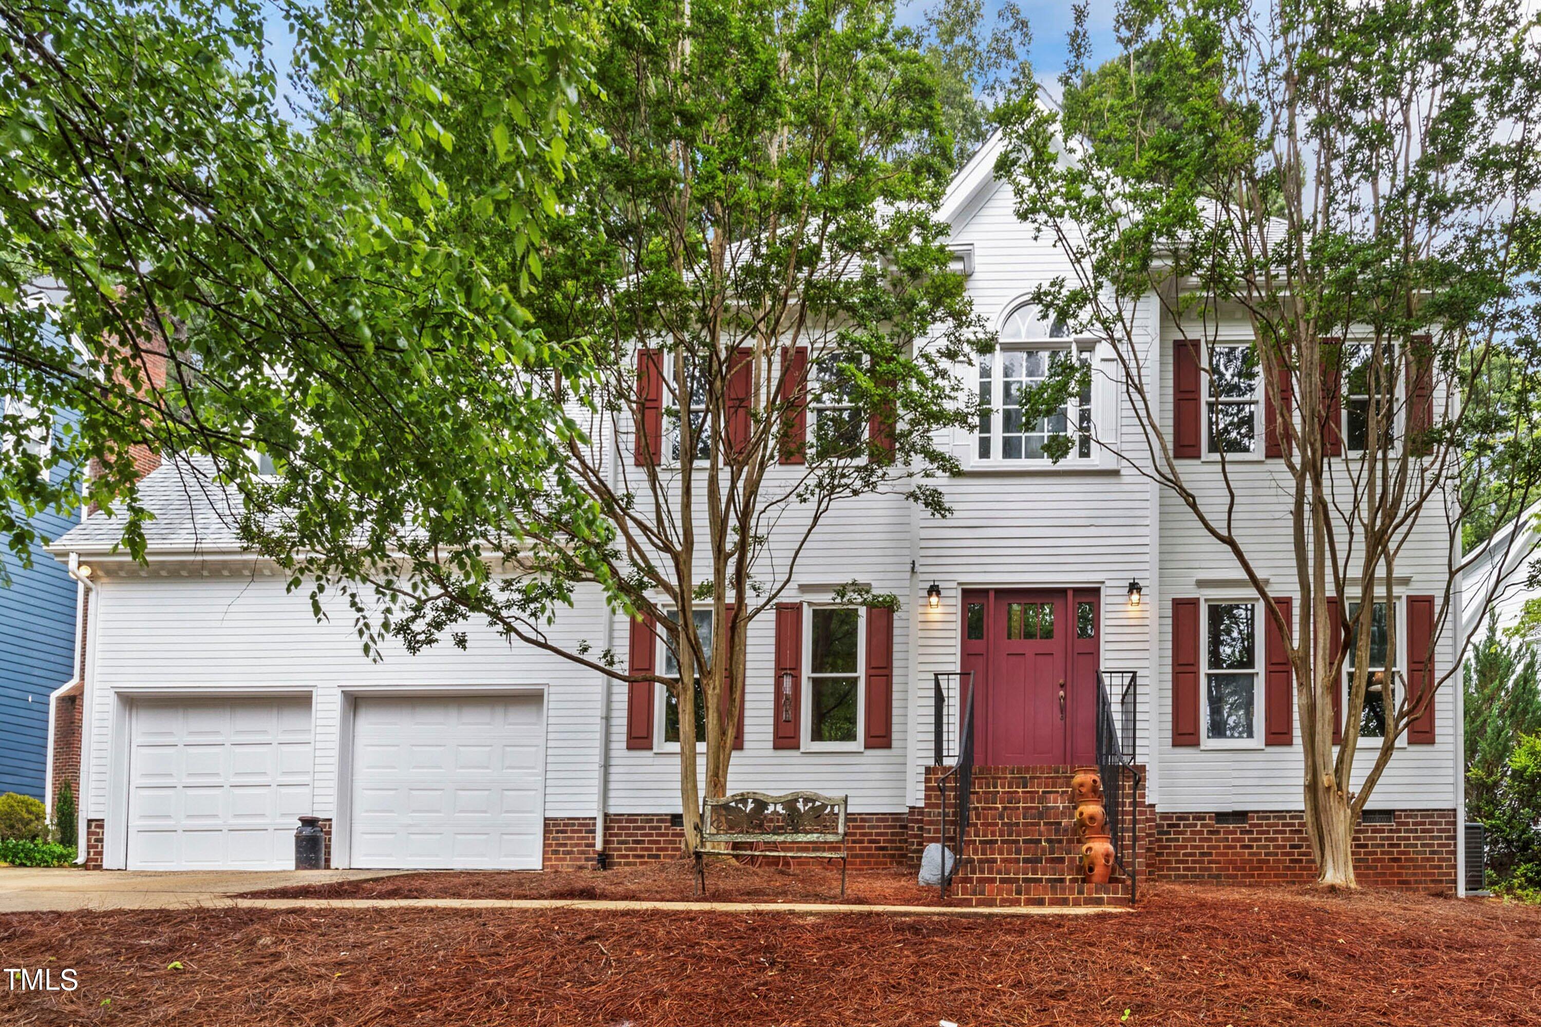
[[(841, 902), (840, 868), (811, 859), (791, 865), (749, 856), (749, 862), (712, 859), (706, 898), (712, 902)], [(428, 870), (390, 878), (334, 881), (247, 892), (250, 899), (638, 899), (698, 902), (695, 873), (684, 859), (615, 870)], [(848, 905), (938, 905), (937, 888), (923, 888), (914, 870), (852, 870)]]

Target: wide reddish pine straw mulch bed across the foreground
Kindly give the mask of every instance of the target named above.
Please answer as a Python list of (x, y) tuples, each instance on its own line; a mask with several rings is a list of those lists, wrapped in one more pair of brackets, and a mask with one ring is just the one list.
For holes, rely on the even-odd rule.
[(1498, 901), (1179, 885), (1133, 913), (989, 919), (26, 913), (0, 916), (0, 965), (82, 985), (0, 992), (0, 1022), (1510, 1025), (1541, 1022), (1538, 935), (1541, 912)]

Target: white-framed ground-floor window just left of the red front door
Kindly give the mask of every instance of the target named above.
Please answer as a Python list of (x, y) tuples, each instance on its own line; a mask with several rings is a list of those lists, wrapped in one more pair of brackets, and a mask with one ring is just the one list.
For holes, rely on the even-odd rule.
[(861, 748), (861, 607), (809, 605), (803, 633), (803, 748)]

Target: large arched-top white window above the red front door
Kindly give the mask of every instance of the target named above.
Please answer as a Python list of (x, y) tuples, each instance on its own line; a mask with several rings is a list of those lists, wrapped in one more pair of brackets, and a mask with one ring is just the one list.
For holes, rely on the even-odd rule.
[(1000, 330), (1000, 346), (979, 359), (979, 428), (975, 462), (1053, 462), (1049, 439), (1068, 436), (1065, 459), (1091, 459), (1093, 390), (1089, 374), (1077, 394), (1046, 416), (1023, 411), (1023, 397), (1042, 385), (1065, 360), (1091, 366), (1091, 345), (1071, 339), (1062, 320), (1043, 320), (1032, 306), (1019, 306)]

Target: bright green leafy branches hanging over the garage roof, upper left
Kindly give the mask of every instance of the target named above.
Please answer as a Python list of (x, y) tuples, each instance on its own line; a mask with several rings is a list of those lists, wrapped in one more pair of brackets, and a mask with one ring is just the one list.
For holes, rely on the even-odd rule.
[(31, 513), (82, 502), (126, 511), (142, 556), (145, 448), (247, 493), (253, 450), (339, 500), (402, 474), (398, 511), (459, 500), (445, 463), (546, 471), (546, 400), (499, 376), (581, 371), (522, 297), (582, 134), (582, 9), (294, 6), (288, 117), (264, 17), (0, 0), (0, 537), (23, 559)]

